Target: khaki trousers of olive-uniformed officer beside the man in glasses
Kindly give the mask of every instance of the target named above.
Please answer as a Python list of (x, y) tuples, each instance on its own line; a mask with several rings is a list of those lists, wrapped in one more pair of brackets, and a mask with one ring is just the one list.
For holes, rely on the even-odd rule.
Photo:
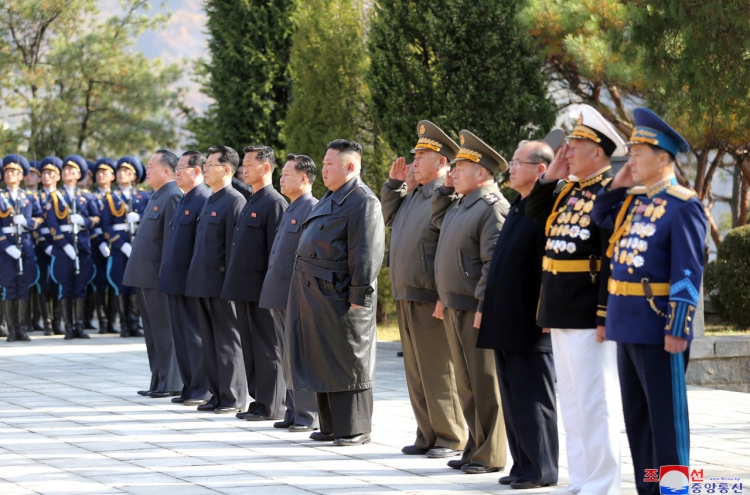
[(491, 349), (477, 349), (474, 312), (445, 308), (443, 323), (456, 373), (458, 397), (469, 426), (461, 462), (505, 467), (507, 437)]

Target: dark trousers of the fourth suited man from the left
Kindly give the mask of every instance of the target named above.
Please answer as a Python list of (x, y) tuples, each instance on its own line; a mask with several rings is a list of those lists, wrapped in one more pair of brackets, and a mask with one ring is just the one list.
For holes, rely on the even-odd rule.
[(257, 302), (235, 301), (237, 328), (242, 340), (242, 359), (250, 395), (255, 399), (248, 411), (270, 419), (284, 417), (284, 362), (281, 355), (284, 334), (273, 322), (271, 312)]

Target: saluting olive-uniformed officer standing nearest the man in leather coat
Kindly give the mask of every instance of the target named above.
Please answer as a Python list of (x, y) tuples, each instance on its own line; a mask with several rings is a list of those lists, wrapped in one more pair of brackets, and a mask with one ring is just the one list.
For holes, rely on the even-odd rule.
[(414, 444), (401, 452), (453, 457), (466, 445), (466, 424), (445, 328), (432, 315), (438, 300), (434, 267), (440, 230), (430, 221), (430, 204), (459, 147), (427, 120), (417, 124), (417, 137), (411, 150), (416, 189), (408, 192), (406, 160), (398, 158), (380, 193), (385, 226), (391, 228), (389, 273), (404, 349), (406, 384), (417, 421)]

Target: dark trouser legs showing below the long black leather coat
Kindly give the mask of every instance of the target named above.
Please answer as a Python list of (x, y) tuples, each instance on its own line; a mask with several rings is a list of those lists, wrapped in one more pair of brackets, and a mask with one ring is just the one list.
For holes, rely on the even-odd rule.
[(336, 438), (372, 431), (372, 389), (316, 394), (320, 432)]

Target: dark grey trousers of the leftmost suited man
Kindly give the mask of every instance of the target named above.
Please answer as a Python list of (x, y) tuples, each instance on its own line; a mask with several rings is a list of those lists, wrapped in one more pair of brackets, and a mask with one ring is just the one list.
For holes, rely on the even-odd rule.
[[(151, 367), (152, 392), (177, 392), (182, 390), (182, 380), (177, 368), (169, 318), (167, 296), (156, 289), (137, 289), (138, 305), (143, 318), (143, 335)], [(80, 317), (80, 316), (79, 316)]]

